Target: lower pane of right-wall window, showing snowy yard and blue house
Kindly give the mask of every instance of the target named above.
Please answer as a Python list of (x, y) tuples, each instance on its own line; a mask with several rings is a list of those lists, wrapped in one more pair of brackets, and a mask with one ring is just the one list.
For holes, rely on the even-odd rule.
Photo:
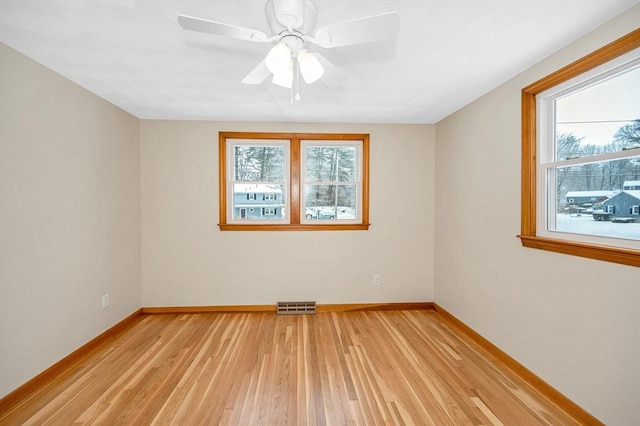
[(556, 169), (556, 231), (640, 240), (640, 156)]

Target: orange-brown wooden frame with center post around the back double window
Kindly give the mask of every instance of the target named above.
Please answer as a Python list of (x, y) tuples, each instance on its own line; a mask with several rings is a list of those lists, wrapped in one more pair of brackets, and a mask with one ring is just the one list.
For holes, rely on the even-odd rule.
[[(227, 139), (289, 140), (289, 203), (290, 221), (287, 224), (227, 223)], [(300, 222), (300, 197), (302, 191), (300, 141), (362, 141), (362, 210), (361, 223)], [(364, 231), (369, 229), (369, 135), (364, 133), (266, 133), (266, 132), (220, 132), (218, 134), (218, 178), (221, 231)]]

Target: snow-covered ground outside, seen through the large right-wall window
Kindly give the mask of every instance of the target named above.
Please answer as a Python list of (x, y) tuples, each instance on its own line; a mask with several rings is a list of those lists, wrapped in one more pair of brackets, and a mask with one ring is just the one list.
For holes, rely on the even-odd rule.
[(582, 214), (580, 216), (559, 214), (556, 216), (556, 230), (575, 234), (640, 240), (640, 222), (599, 222), (594, 220), (591, 214)]

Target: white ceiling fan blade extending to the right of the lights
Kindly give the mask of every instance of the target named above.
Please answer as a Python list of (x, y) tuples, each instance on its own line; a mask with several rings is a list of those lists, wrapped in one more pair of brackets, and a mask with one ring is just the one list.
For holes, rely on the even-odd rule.
[(318, 28), (313, 42), (326, 48), (349, 46), (391, 40), (399, 30), (398, 12), (388, 12)]

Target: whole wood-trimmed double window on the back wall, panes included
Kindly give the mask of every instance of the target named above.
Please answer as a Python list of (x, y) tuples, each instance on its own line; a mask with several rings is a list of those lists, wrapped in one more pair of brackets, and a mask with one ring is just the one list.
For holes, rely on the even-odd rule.
[(369, 135), (220, 132), (220, 229), (366, 230)]

